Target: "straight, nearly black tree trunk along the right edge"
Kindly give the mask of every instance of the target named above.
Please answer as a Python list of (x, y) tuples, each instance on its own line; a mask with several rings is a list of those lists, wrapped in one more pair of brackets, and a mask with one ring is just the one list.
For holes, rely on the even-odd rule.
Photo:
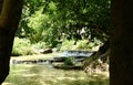
[(112, 0), (110, 85), (133, 85), (133, 0)]

